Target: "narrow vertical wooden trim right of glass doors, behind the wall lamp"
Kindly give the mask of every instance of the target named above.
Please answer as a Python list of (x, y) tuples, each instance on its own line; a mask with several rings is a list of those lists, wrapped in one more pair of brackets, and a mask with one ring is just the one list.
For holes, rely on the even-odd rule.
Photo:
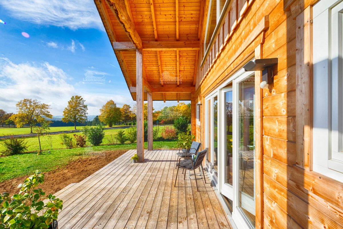
[[(255, 48), (255, 59), (262, 58), (262, 44)], [(263, 228), (263, 123), (262, 123), (262, 72), (255, 71), (255, 193), (256, 222), (255, 228)]]

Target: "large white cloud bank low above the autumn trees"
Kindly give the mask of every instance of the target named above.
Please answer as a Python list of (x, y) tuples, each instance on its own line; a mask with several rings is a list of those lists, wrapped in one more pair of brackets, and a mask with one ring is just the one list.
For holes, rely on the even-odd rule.
[[(48, 62), (14, 64), (0, 58), (0, 109), (15, 112), (22, 99), (37, 99), (51, 106), (52, 115), (62, 115), (72, 95), (81, 95), (88, 105), (88, 114), (99, 114), (100, 107), (113, 99), (119, 106), (132, 102), (130, 96), (115, 93), (94, 93), (75, 88), (70, 76)], [(99, 89), (100, 91), (101, 89)]]

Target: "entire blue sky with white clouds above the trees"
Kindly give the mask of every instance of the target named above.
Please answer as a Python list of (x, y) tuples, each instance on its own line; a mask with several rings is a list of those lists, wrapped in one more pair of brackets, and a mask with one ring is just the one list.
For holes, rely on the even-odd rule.
[[(1, 1), (0, 19), (0, 109), (31, 98), (62, 115), (75, 94), (88, 114), (110, 99), (135, 103), (92, 0)], [(166, 105), (176, 102), (154, 101), (155, 110)]]

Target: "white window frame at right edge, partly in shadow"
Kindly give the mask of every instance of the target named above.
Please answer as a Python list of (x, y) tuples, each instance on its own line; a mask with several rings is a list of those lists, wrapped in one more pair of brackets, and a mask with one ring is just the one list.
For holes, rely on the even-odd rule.
[(313, 7), (313, 170), (343, 182), (340, 9), (342, 0), (319, 1)]

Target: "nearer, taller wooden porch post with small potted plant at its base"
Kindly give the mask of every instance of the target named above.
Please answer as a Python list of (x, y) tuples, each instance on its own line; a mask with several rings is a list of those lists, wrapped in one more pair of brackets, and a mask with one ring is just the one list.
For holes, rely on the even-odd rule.
[(144, 161), (144, 86), (142, 49), (136, 49), (137, 156)]

